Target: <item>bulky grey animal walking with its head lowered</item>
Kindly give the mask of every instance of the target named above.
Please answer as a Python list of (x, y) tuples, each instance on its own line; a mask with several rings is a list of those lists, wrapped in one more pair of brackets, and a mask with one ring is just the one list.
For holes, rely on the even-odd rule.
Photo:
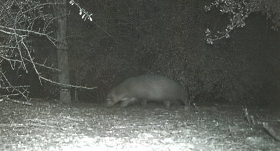
[(160, 75), (140, 75), (128, 78), (109, 91), (107, 106), (121, 102), (122, 107), (141, 102), (147, 106), (148, 101), (163, 102), (166, 108), (172, 104), (186, 104), (186, 91), (177, 82)]

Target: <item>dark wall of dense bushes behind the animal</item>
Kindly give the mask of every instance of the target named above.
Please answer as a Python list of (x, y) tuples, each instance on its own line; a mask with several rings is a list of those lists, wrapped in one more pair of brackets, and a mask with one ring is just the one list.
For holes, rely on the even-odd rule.
[[(68, 5), (67, 43), (71, 84), (98, 86), (78, 90), (83, 102), (103, 103), (122, 80), (142, 74), (166, 75), (179, 82), (197, 103), (280, 104), (280, 34), (261, 14), (230, 38), (206, 44), (204, 31), (223, 30), (226, 15), (204, 11), (211, 3), (197, 0), (79, 1), (93, 13), (83, 21)], [(56, 64), (56, 48), (34, 41), (37, 60)], [(41, 61), (42, 62), (42, 61)], [(45, 71), (47, 78), (56, 75)], [(29, 72), (31, 97), (58, 97), (58, 88), (36, 82)]]

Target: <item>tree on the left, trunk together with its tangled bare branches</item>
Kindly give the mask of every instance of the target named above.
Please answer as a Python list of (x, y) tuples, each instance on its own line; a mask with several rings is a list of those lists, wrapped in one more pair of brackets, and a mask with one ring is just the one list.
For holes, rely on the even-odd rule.
[[(0, 93), (2, 96), (21, 95), (25, 97), (25, 100), (28, 100), (29, 85), (14, 82), (13, 78), (30, 72), (30, 68), (27, 67), (29, 65), (38, 75), (39, 82), (45, 80), (61, 87), (61, 101), (69, 102), (71, 100), (69, 87), (73, 85), (69, 84), (67, 43), (65, 40), (67, 30), (66, 2), (66, 0), (10, 0), (5, 3), (0, 1)], [(56, 34), (53, 32), (54, 27), (56, 27)], [(58, 49), (58, 69), (35, 59), (36, 48), (33, 47), (32, 43), (36, 37), (47, 38)], [(41, 73), (43, 70), (58, 73), (58, 82), (45, 78)], [(9, 71), (14, 72), (11, 75)], [(74, 87), (92, 89), (83, 86)]]

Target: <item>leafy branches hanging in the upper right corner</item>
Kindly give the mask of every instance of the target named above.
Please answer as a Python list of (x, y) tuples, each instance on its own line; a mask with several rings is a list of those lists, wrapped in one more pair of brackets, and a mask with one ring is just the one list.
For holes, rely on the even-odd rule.
[(215, 0), (210, 5), (206, 5), (204, 10), (206, 12), (213, 8), (217, 8), (222, 14), (228, 14), (230, 23), (222, 32), (217, 31), (213, 34), (211, 30), (206, 29), (206, 43), (213, 44), (215, 40), (222, 38), (230, 38), (230, 32), (236, 27), (244, 27), (245, 20), (252, 12), (261, 12), (271, 19), (274, 25), (272, 30), (277, 31), (280, 26), (280, 3), (273, 0)]

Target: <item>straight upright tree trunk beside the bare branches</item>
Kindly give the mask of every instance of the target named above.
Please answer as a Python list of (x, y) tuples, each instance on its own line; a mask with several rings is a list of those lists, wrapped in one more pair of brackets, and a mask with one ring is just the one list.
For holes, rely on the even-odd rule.
[[(61, 73), (58, 75), (58, 82), (61, 84), (70, 84), (69, 80), (69, 64), (68, 64), (68, 47), (66, 41), (67, 32), (67, 10), (65, 0), (55, 0), (54, 14), (57, 17), (56, 20), (56, 38), (57, 38), (57, 59), (58, 69)], [(63, 4), (61, 4), (63, 3)], [(68, 86), (60, 86), (59, 100), (61, 102), (71, 102), (71, 94)]]

